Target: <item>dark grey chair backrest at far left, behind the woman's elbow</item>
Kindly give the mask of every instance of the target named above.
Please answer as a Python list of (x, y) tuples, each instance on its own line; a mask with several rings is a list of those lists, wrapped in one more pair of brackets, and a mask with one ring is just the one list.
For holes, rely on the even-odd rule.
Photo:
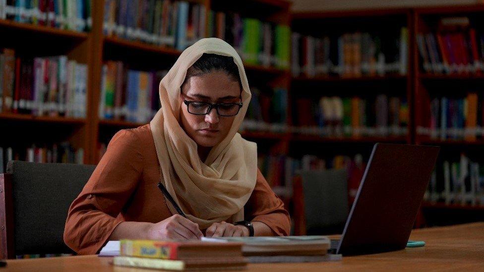
[[(95, 165), (11, 161), (0, 177), (0, 258), (73, 253), (63, 242), (67, 211)], [(1, 203), (3, 201), (3, 203)]]

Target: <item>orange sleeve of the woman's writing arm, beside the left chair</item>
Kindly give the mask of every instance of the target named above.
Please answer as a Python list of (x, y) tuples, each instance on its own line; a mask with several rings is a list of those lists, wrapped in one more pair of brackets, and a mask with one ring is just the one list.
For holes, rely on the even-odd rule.
[(84, 189), (72, 202), (64, 242), (78, 254), (96, 254), (123, 220), (121, 209), (140, 180), (143, 157), (139, 138), (121, 130), (109, 142)]

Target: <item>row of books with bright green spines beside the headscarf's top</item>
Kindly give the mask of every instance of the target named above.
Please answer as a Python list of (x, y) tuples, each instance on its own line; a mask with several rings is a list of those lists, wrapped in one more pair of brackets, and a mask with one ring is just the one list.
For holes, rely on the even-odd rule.
[(208, 37), (231, 44), (246, 63), (289, 69), (291, 30), (287, 25), (209, 11)]

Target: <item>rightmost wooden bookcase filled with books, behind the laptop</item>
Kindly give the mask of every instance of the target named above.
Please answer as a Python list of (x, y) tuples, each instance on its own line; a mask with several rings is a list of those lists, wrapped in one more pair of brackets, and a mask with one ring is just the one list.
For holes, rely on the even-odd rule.
[(475, 5), (413, 13), (415, 143), (441, 147), (421, 207), (421, 226), (483, 220), (484, 52), (478, 50), (483, 12), (483, 5)]

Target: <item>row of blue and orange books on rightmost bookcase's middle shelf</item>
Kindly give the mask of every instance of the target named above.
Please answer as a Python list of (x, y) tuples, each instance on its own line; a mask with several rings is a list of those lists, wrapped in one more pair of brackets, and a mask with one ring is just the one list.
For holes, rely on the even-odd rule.
[(431, 139), (459, 139), (475, 141), (484, 137), (484, 97), (469, 92), (466, 97), (435, 97), (424, 112), (429, 116), (424, 126), (417, 128), (419, 135)]

